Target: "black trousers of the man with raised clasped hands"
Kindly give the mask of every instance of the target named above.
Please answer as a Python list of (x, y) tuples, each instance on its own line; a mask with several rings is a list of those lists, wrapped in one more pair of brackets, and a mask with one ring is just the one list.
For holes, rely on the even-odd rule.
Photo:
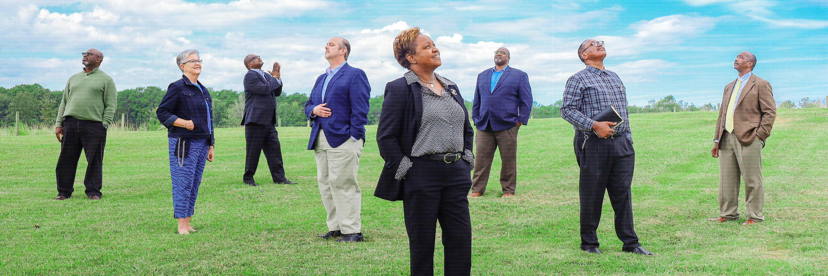
[(258, 168), (259, 154), (264, 152), (267, 167), (270, 167), (270, 176), (273, 182), (284, 182), (285, 167), (282, 162), (282, 146), (279, 144), (279, 133), (276, 127), (258, 123), (244, 125), (244, 140), (247, 142), (247, 157), (244, 159), (245, 183), (254, 183), (253, 175)]

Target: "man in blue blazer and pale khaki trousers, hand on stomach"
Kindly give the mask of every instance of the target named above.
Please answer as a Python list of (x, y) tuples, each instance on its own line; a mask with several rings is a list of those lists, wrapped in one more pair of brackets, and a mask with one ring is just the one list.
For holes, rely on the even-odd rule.
[(348, 65), (350, 43), (334, 37), (325, 45), (330, 67), (316, 78), (305, 114), (313, 122), (308, 149), (314, 150), (316, 177), (327, 211), (328, 233), (320, 238), (363, 241), (357, 184), (359, 157), (365, 144), (371, 85), (359, 68)]

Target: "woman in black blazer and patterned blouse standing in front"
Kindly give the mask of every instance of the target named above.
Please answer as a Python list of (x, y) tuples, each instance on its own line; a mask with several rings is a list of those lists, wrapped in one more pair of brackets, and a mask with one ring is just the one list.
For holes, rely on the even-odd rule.
[(412, 275), (434, 274), (436, 222), (445, 246), (445, 275), (471, 273), (471, 220), (466, 193), (474, 167), (463, 97), (434, 73), (440, 51), (417, 27), (394, 39), (407, 73), (385, 86), (377, 143), (385, 167), (374, 196), (402, 201)]

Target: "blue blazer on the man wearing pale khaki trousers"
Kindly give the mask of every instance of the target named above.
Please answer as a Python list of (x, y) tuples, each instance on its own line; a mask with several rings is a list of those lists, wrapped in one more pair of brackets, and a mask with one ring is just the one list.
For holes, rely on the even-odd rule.
[[(310, 128), (308, 149), (314, 149), (316, 133), (325, 130), (325, 138), (331, 148), (337, 148), (349, 138), (365, 138), (365, 124), (368, 123), (368, 98), (371, 97), (371, 85), (362, 69), (345, 63), (330, 78), (325, 99), (322, 99), (322, 86), (325, 85), (327, 73), (316, 78), (310, 99), (305, 103), (305, 115), (313, 123)], [(310, 112), (319, 104), (330, 109), (330, 117), (310, 117)]]

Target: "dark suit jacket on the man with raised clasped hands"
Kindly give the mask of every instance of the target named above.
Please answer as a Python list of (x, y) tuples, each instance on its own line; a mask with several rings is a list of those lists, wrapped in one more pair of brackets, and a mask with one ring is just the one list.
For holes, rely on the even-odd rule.
[(248, 70), (248, 74), (244, 75), (242, 125), (248, 123), (273, 125), (276, 123), (276, 97), (281, 94), (282, 85), (276, 78), (271, 75), (264, 77), (257, 71)]

